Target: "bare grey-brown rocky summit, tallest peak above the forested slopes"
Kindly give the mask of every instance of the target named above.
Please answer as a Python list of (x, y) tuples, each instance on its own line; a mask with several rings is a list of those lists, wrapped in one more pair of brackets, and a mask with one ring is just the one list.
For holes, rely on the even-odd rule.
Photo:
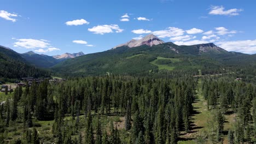
[(115, 46), (113, 49), (116, 49), (117, 47), (121, 47), (121, 46), (128, 46), (128, 47), (137, 47), (141, 45), (153, 46), (153, 45), (159, 45), (164, 43), (165, 43), (164, 41), (162, 41), (155, 35), (149, 34), (142, 39), (139, 39), (139, 40), (132, 39), (125, 44), (120, 44), (118, 46)]

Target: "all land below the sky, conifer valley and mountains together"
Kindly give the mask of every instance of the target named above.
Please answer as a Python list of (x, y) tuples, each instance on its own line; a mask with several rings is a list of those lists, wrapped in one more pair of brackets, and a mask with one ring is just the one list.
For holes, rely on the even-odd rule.
[(5, 143), (255, 142), (255, 55), (149, 34), (87, 55), (0, 47), (0, 58), (14, 89), (0, 92)]

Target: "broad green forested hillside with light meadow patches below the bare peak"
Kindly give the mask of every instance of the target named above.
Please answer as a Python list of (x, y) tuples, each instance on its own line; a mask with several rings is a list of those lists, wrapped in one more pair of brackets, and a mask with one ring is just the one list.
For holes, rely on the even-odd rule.
[[(226, 73), (231, 69), (255, 63), (252, 55), (228, 52), (214, 44), (178, 46), (164, 43), (92, 53), (53, 67), (63, 75), (88, 76), (104, 74), (149, 74), (161, 70), (201, 69), (203, 74)], [(234, 67), (235, 65), (235, 67)], [(225, 69), (223, 71), (223, 69)]]

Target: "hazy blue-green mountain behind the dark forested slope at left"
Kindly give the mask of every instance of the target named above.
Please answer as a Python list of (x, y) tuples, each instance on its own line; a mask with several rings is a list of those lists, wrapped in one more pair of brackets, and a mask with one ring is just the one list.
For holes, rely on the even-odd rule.
[(43, 54), (38, 55), (33, 51), (22, 53), (21, 56), (24, 59), (26, 59), (26, 61), (29, 62), (30, 64), (40, 68), (49, 68), (60, 62), (58, 59), (55, 59), (51, 56), (47, 56)]

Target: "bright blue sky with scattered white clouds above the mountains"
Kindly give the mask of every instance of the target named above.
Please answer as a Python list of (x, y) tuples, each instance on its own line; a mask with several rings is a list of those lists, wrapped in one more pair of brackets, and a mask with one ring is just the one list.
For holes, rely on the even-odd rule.
[(153, 33), (178, 45), (256, 53), (256, 2), (13, 1), (0, 4), (0, 45), (46, 55), (109, 50)]

